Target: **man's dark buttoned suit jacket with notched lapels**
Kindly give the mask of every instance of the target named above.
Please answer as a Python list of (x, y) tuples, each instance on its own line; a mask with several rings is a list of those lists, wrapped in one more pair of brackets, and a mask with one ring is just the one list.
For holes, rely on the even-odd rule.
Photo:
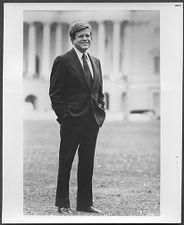
[(104, 94), (100, 61), (89, 56), (94, 77), (90, 87), (83, 67), (74, 49), (56, 57), (50, 76), (49, 96), (57, 121), (62, 123), (64, 116), (79, 117), (92, 108), (95, 119), (102, 126), (105, 119)]

